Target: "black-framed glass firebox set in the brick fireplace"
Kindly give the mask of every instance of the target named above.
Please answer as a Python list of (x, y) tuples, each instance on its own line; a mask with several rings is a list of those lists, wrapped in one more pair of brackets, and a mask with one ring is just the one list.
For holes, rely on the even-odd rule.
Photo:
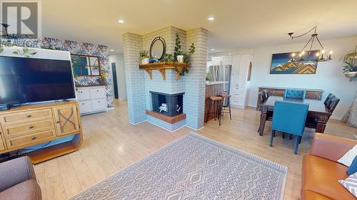
[(153, 111), (169, 117), (183, 113), (183, 94), (166, 94), (150, 91)]

